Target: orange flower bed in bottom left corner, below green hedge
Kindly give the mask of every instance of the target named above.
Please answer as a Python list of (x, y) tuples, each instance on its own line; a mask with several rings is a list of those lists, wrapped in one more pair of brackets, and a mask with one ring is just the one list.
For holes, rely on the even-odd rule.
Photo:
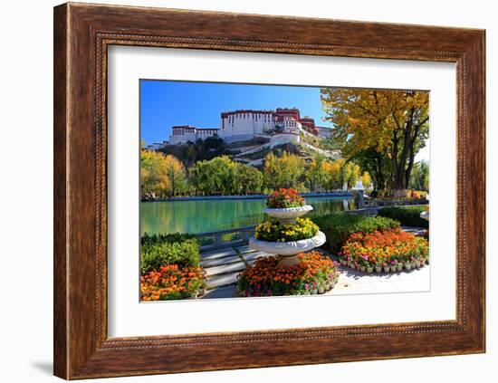
[(196, 296), (206, 285), (201, 267), (179, 267), (177, 264), (161, 266), (159, 271), (142, 275), (140, 292), (142, 301), (168, 301)]

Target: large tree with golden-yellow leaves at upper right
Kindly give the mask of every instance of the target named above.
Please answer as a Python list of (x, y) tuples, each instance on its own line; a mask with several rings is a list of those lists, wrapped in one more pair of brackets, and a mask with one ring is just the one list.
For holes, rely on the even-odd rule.
[(321, 102), (342, 155), (368, 170), (376, 187), (403, 194), (428, 138), (428, 92), (323, 88)]

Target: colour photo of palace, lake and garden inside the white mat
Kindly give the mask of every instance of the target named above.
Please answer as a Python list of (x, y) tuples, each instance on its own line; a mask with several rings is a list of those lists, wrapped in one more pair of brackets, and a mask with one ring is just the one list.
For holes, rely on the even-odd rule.
[(429, 96), (140, 79), (140, 302), (430, 291)]

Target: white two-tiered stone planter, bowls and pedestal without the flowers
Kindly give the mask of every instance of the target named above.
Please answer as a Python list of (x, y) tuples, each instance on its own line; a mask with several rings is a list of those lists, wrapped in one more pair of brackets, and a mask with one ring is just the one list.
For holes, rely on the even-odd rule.
[[(311, 212), (311, 210), (313, 210), (312, 206), (304, 205), (284, 208), (266, 207), (263, 209), (263, 212), (278, 219), (281, 225), (285, 225), (295, 223), (296, 218)], [(280, 259), (279, 265), (290, 266), (299, 263), (297, 254), (308, 252), (315, 247), (319, 247), (322, 244), (325, 244), (325, 240), (326, 237), (322, 232), (318, 232), (317, 235), (312, 236), (311, 238), (290, 242), (262, 241), (253, 236), (249, 239), (249, 247), (253, 250), (278, 255)]]

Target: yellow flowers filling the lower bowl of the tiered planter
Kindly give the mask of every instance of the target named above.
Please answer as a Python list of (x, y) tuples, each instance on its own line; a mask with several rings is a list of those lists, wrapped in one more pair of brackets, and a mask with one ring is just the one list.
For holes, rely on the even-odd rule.
[(295, 224), (266, 221), (256, 226), (255, 237), (262, 241), (299, 241), (318, 235), (319, 228), (310, 218), (297, 218)]

